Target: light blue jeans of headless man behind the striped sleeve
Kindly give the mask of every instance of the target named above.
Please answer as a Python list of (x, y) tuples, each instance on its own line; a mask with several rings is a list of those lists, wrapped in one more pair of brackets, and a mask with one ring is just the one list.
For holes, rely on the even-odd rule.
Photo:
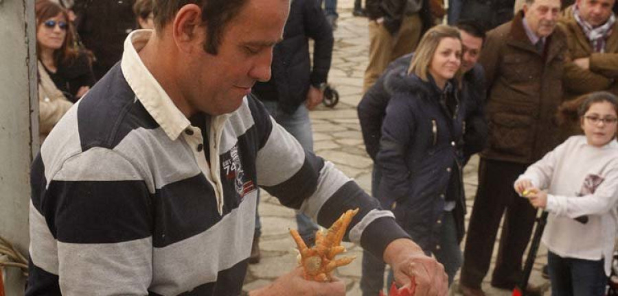
[[(275, 121), (292, 134), (305, 150), (313, 151), (311, 120), (309, 119), (309, 110), (304, 104), (301, 104), (292, 114), (288, 114), (282, 108), (279, 108), (277, 101), (262, 101), (262, 103)], [(257, 212), (255, 215), (255, 225), (258, 225), (260, 217)], [(296, 214), (296, 223), (298, 225), (298, 233), (306, 242), (314, 240), (315, 232), (319, 229), (316, 223), (311, 221), (305, 214), (299, 212)]]

